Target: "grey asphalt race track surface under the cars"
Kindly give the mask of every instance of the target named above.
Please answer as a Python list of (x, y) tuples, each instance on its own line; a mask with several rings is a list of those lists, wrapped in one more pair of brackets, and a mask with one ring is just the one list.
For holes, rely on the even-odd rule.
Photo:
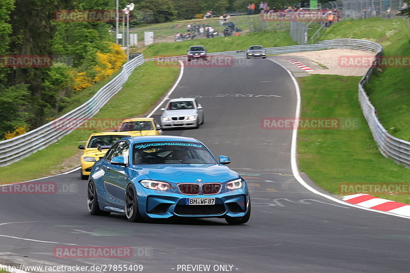
[[(292, 131), (260, 126), (265, 117), (294, 116), (293, 82), (269, 59), (243, 62), (186, 67), (171, 98), (198, 98), (205, 123), (165, 134), (198, 138), (215, 156), (231, 158), (230, 167), (250, 185), (247, 224), (90, 216), (87, 182), (76, 171), (36, 181), (56, 182), (57, 194), (0, 195), (0, 263), (141, 264), (143, 272), (182, 272), (181, 265), (211, 265), (210, 272), (218, 265), (233, 272), (408, 272), (409, 220), (336, 203), (299, 184), (291, 170)], [(130, 246), (133, 257), (53, 256), (55, 247), (73, 245)]]

